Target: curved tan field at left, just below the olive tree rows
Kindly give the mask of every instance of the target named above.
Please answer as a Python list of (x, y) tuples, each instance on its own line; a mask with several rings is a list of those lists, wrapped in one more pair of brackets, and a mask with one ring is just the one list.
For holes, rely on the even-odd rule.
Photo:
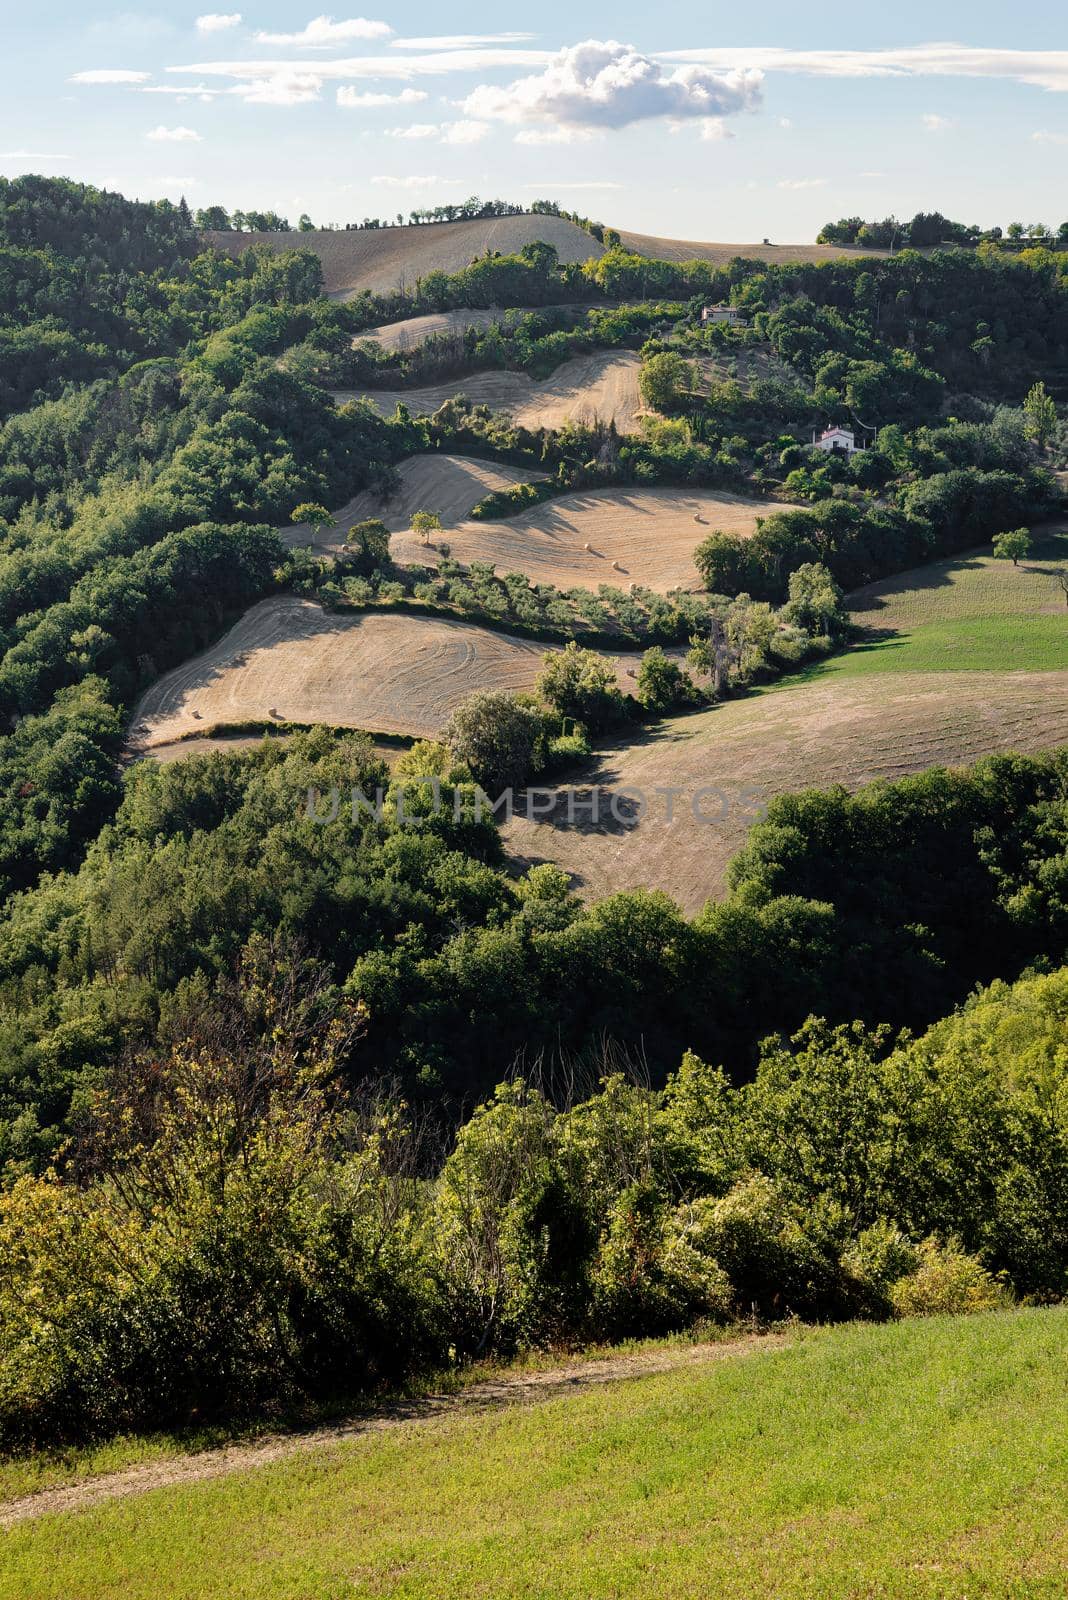
[[(532, 688), (550, 648), (451, 618), (261, 600), (211, 650), (152, 685), (128, 747), (137, 755), (216, 723), (270, 718), (432, 738), (475, 690)], [(632, 688), (635, 662), (616, 661)]]

